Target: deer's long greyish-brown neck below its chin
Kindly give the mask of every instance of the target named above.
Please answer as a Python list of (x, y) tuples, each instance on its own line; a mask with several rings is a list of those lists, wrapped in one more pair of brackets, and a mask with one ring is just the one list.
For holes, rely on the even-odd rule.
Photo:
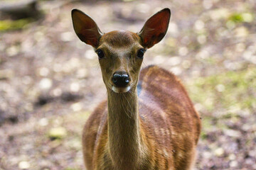
[[(108, 91), (109, 152), (115, 169), (134, 169), (141, 157), (137, 89)], [(131, 166), (131, 167), (129, 167)]]

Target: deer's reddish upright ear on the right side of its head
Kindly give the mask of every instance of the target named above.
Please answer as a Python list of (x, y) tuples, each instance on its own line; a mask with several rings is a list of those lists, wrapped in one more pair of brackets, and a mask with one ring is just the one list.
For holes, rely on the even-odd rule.
[(143, 47), (153, 47), (164, 38), (169, 26), (170, 16), (170, 9), (164, 8), (146, 21), (142, 30), (138, 33), (142, 38)]

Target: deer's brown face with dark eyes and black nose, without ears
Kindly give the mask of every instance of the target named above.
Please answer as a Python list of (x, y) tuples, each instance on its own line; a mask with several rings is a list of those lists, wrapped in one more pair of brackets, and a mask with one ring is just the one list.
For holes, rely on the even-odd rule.
[(116, 30), (102, 35), (95, 52), (107, 88), (124, 93), (137, 86), (145, 51), (136, 33)]

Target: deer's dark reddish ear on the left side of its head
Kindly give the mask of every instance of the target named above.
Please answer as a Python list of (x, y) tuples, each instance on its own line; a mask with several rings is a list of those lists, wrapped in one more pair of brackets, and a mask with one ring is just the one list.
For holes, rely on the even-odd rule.
[(73, 9), (71, 13), (73, 27), (78, 38), (92, 47), (97, 47), (102, 33), (95, 21), (78, 9)]

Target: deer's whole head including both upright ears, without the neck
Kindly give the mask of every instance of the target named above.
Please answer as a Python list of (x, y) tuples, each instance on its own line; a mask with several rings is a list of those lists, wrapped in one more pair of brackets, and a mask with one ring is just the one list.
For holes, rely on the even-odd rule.
[(144, 52), (164, 38), (170, 15), (168, 8), (159, 11), (139, 33), (114, 30), (102, 34), (90, 16), (77, 9), (72, 11), (75, 33), (82, 42), (95, 48), (107, 90), (116, 93), (135, 89)]

